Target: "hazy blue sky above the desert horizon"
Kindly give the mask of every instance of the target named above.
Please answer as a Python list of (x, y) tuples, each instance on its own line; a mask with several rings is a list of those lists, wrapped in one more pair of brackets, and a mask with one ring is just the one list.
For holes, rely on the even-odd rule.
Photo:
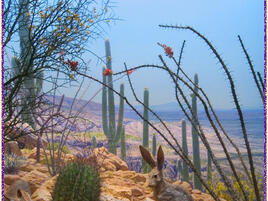
[[(263, 1), (224, 0), (224, 1), (179, 1), (179, 0), (117, 0), (114, 12), (121, 21), (111, 23), (103, 38), (89, 43), (89, 49), (104, 56), (104, 39), (109, 38), (113, 58), (113, 71), (142, 64), (161, 64), (159, 54), (164, 55), (157, 42), (171, 46), (174, 55), (179, 55), (183, 40), (186, 40), (182, 68), (193, 77), (199, 76), (200, 86), (207, 92), (215, 108), (234, 108), (229, 82), (208, 46), (189, 31), (171, 30), (158, 27), (159, 24), (189, 25), (204, 34), (230, 68), (236, 83), (236, 90), (242, 106), (260, 108), (262, 103), (252, 80), (249, 66), (239, 45), (240, 34), (253, 64), (262, 75), (264, 69), (264, 3)], [(103, 64), (90, 63), (91, 75), (101, 79)], [(164, 57), (167, 61), (168, 57)], [(172, 62), (169, 66), (175, 69)], [(137, 95), (142, 98), (144, 88), (149, 88), (150, 104), (163, 104), (175, 101), (174, 89), (167, 73), (159, 70), (140, 70), (132, 75)], [(125, 94), (135, 104), (127, 80)], [(90, 86), (89, 86), (90, 84)], [(89, 86), (83, 99), (89, 99), (100, 88), (87, 81)], [(72, 96), (75, 88), (62, 90)], [(99, 94), (93, 101), (100, 102)], [(118, 102), (118, 101), (117, 101)]]

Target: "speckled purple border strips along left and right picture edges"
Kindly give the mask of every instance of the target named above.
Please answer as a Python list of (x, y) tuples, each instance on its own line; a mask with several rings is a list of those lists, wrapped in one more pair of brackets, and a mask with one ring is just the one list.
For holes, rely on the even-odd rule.
[[(4, 35), (3, 35), (3, 29), (4, 29), (4, 20), (3, 20), (3, 11), (4, 11), (4, 1), (2, 0), (1, 1), (1, 7), (2, 7), (2, 37), (1, 37), (1, 44), (3, 45), (3, 38), (4, 38)], [(264, 0), (264, 200), (267, 201), (267, 191), (266, 191), (266, 188), (267, 188), (267, 183), (266, 183), (266, 177), (267, 177), (267, 159), (266, 159), (266, 154), (267, 154), (267, 150), (266, 150), (266, 147), (267, 147), (267, 134), (266, 134), (266, 125), (267, 125), (267, 110), (266, 110), (266, 105), (267, 105), (267, 97), (266, 97), (266, 93), (267, 93), (267, 88), (266, 88), (266, 85), (267, 85), (267, 14), (266, 14), (266, 11), (267, 11), (267, 1)], [(1, 111), (1, 116), (2, 116), (2, 119), (1, 119), (1, 127), (2, 127), (2, 191), (1, 191), (1, 195), (2, 195), (2, 201), (4, 200), (4, 139), (3, 139), (3, 136), (4, 136), (4, 86), (3, 86), (3, 83), (4, 83), (4, 50), (3, 50), (3, 46), (1, 46), (1, 57), (2, 57), (2, 62), (1, 62), (1, 70), (2, 70), (2, 89), (1, 89), (1, 92), (2, 92), (2, 97), (1, 97), (1, 100), (2, 100), (2, 111)]]

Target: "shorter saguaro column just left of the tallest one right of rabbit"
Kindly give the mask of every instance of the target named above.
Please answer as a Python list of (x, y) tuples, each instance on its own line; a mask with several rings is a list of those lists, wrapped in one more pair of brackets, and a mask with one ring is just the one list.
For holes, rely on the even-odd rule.
[[(188, 156), (186, 122), (184, 119), (181, 122), (181, 130), (182, 130), (182, 149), (184, 154)], [(182, 179), (187, 182), (189, 181), (189, 169), (187, 163), (184, 160), (182, 161)]]

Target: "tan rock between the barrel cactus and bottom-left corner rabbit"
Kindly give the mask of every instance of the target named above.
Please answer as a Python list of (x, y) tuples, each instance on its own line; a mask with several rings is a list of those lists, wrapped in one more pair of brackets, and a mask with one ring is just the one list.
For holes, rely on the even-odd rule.
[(28, 181), (31, 187), (31, 192), (36, 191), (41, 184), (48, 180), (48, 176), (37, 170), (33, 170), (22, 177), (23, 180)]

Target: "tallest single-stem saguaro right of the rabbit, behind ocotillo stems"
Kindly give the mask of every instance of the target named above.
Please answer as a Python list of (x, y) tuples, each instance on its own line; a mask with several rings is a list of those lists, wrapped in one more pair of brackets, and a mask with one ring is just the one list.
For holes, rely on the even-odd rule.
[[(194, 92), (192, 94), (192, 111), (193, 111), (193, 116), (192, 116), (192, 121), (195, 127), (197, 127), (197, 98), (196, 98), (196, 93), (198, 93), (198, 76), (195, 74), (194, 76)], [(198, 139), (198, 133), (197, 130), (192, 126), (192, 141), (193, 141), (193, 159), (194, 159), (194, 166), (201, 173), (201, 163), (200, 163), (200, 151), (199, 151), (199, 139)], [(200, 180), (198, 179), (197, 175), (194, 174), (194, 188), (202, 190), (202, 184)]]

